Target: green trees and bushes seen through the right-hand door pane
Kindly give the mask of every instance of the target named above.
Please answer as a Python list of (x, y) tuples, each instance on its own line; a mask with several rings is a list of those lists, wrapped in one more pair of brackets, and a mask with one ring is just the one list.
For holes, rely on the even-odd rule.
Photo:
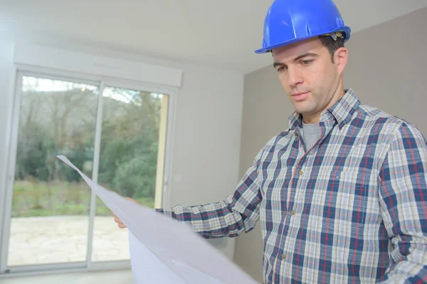
[(107, 112), (126, 115), (102, 123), (99, 180), (123, 196), (154, 197), (160, 101), (149, 93), (127, 92), (133, 103), (105, 100)]

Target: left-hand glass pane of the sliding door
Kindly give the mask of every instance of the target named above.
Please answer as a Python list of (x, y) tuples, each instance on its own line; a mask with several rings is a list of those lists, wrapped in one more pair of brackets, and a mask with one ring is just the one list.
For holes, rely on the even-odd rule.
[(98, 94), (23, 76), (8, 266), (86, 260), (90, 190), (56, 155), (92, 175)]

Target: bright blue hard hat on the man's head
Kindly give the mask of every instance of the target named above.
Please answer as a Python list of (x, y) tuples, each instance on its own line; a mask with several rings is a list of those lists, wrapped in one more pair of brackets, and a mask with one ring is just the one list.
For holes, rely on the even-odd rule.
[(350, 33), (332, 0), (275, 0), (265, 16), (263, 48), (255, 53), (319, 35), (342, 36), (347, 41)]

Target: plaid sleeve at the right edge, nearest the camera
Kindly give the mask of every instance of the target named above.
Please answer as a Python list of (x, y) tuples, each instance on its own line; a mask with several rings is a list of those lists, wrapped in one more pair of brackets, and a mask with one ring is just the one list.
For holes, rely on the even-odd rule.
[(379, 197), (391, 259), (381, 283), (426, 283), (426, 139), (415, 126), (403, 124), (389, 145)]

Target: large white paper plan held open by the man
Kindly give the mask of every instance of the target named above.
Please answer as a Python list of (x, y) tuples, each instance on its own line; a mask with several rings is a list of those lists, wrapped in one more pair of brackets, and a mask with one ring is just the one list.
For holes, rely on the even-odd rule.
[(116, 192), (105, 190), (64, 155), (58, 155), (58, 158), (77, 170), (102, 202), (129, 229), (135, 283), (256, 283), (188, 225), (130, 202)]

